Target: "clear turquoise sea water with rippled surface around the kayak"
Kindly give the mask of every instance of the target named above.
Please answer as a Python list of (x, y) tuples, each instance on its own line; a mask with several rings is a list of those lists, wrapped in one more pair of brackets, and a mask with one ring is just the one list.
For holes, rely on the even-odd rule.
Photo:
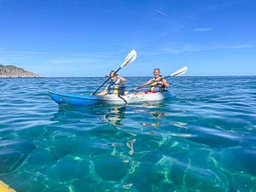
[(0, 79), (0, 179), (19, 192), (256, 191), (256, 77), (172, 78), (175, 99), (126, 106), (46, 93), (103, 80)]

